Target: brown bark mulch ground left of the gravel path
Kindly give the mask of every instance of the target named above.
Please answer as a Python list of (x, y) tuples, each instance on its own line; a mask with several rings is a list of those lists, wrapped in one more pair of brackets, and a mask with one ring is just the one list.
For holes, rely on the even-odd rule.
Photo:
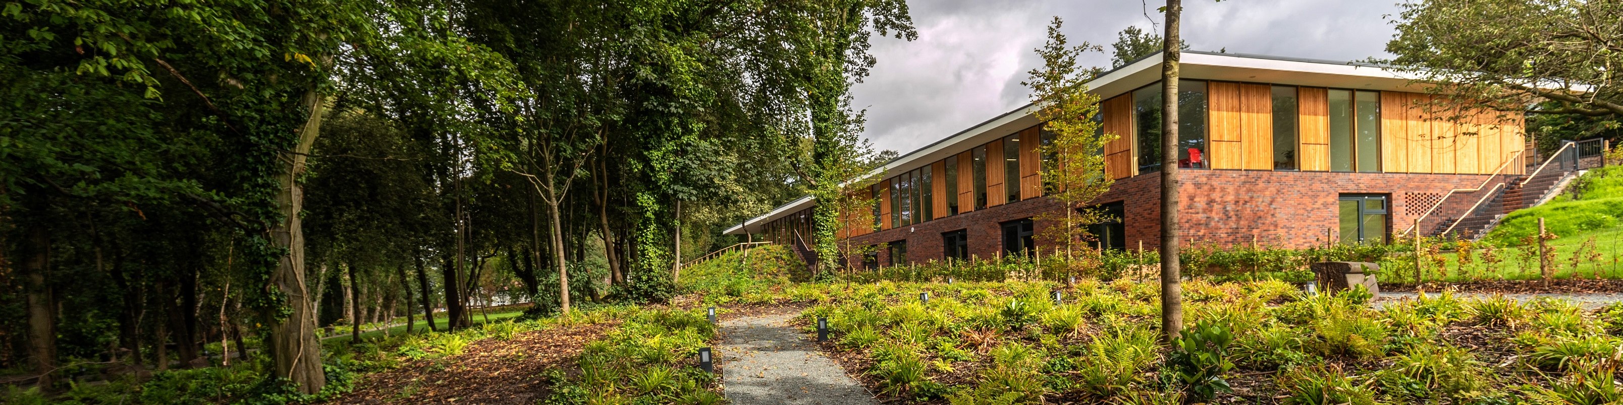
[(544, 392), (542, 371), (568, 364), (581, 345), (615, 326), (558, 326), (511, 340), (484, 339), (456, 356), (364, 376), (354, 392), (331, 403), (536, 403)]

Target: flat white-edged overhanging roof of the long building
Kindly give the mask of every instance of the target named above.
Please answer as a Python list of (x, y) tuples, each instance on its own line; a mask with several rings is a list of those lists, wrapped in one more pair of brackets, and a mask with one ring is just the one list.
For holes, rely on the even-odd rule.
[[(1162, 53), (1157, 52), (1131, 62), (1126, 66), (1112, 70), (1089, 81), (1087, 92), (1099, 94), (1100, 97), (1115, 97), (1160, 81), (1160, 57)], [(1422, 84), (1417, 84), (1417, 76), (1380, 65), (1246, 53), (1185, 50), (1182, 52), (1180, 73), (1185, 79), (1250, 81), (1367, 91), (1425, 89)], [(896, 157), (868, 175), (880, 175), (881, 178), (886, 178), (891, 173), (914, 170), (946, 159), (948, 156), (956, 156), (969, 151), (971, 147), (1018, 133), (1019, 130), (1031, 128), (1037, 125), (1037, 118), (1032, 117), (1031, 107), (1032, 104), (1026, 104), (1019, 109), (993, 117), (992, 120), (964, 128), (962, 131), (941, 138), (925, 147)], [(724, 233), (743, 235), (747, 230), (748, 233), (760, 233), (761, 225), (766, 222), (773, 222), (812, 206), (815, 206), (812, 196), (803, 196), (768, 211), (766, 214), (745, 220), (740, 225), (732, 225)]]

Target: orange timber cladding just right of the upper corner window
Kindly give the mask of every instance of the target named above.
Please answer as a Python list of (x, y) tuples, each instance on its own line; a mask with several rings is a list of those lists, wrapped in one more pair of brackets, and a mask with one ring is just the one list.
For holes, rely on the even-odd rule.
[(1274, 168), (1274, 96), (1268, 84), (1206, 84), (1211, 168)]

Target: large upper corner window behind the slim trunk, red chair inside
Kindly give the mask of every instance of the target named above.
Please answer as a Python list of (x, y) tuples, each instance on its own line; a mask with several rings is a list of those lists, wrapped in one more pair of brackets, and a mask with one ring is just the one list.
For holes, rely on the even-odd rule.
[[(1160, 170), (1160, 84), (1133, 91), (1139, 173)], [(1208, 167), (1206, 113), (1206, 83), (1178, 81), (1178, 167)]]

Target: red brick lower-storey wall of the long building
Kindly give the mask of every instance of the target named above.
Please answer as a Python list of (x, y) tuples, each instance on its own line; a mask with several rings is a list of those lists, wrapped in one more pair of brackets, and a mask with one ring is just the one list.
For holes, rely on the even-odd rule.
[[(1183, 243), (1235, 245), (1251, 243), (1305, 248), (1323, 243), (1326, 230), (1339, 225), (1337, 196), (1386, 194), (1388, 230), (1402, 232), (1430, 207), (1415, 193), (1446, 194), (1454, 188), (1475, 188), (1487, 175), (1417, 175), (1417, 173), (1331, 173), (1271, 170), (1182, 170), (1180, 225)], [(1459, 211), (1475, 202), (1479, 194), (1459, 194), (1448, 204)], [(1410, 201), (1414, 199), (1414, 201)], [(1126, 245), (1146, 249), (1160, 246), (1160, 173), (1117, 180), (1099, 202), (1123, 201)], [(1410, 209), (1414, 206), (1414, 209)], [(1048, 198), (987, 207), (917, 225), (881, 230), (857, 237), (862, 243), (907, 241), (907, 259), (923, 262), (941, 259), (941, 233), (967, 230), (969, 253), (997, 256), (1001, 248), (1000, 224), (1057, 211)], [(1433, 214), (1433, 215), (1444, 215)], [(1042, 235), (1045, 224), (1037, 224)], [(1337, 232), (1339, 233), (1339, 232)], [(1039, 246), (1047, 246), (1040, 240)], [(889, 251), (880, 251), (880, 262), (889, 264)]]

